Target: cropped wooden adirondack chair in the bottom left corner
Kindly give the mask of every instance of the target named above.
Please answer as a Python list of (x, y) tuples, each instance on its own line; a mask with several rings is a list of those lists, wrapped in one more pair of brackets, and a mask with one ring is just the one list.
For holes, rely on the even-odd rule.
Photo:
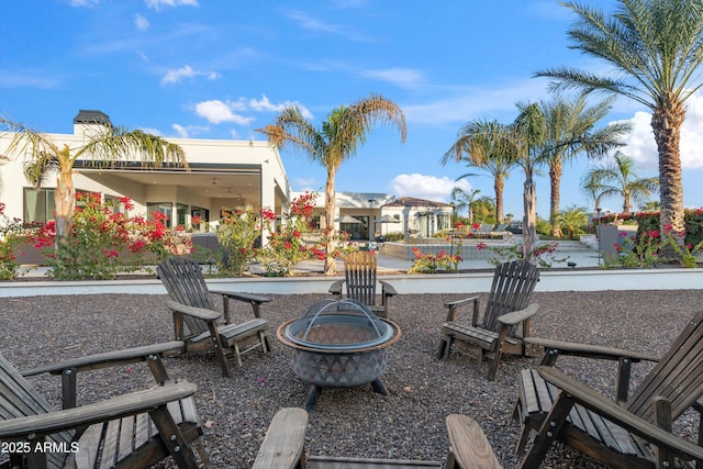
[[(0, 355), (0, 468), (148, 468), (172, 456), (197, 468), (192, 447), (210, 467), (192, 395), (196, 384), (172, 383), (161, 354), (182, 343), (82, 357), (20, 373)], [(163, 386), (76, 406), (79, 371), (145, 361)], [(56, 411), (24, 376), (60, 375), (64, 410)]]

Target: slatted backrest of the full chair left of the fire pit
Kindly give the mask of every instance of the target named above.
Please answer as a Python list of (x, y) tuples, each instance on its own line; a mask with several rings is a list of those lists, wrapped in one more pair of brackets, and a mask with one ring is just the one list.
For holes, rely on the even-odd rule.
[[(171, 300), (194, 308), (213, 310), (212, 298), (202, 275), (200, 264), (185, 257), (169, 257), (156, 268), (166, 291)], [(188, 331), (198, 335), (208, 331), (208, 323), (196, 317), (185, 315)]]

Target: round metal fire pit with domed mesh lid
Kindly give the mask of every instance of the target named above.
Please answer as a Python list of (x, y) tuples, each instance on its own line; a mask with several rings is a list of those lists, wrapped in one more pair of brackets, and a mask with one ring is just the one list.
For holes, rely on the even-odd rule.
[(313, 386), (305, 409), (312, 409), (323, 388), (371, 383), (386, 395), (380, 376), (387, 347), (400, 339), (394, 323), (378, 317), (357, 300), (321, 300), (300, 317), (278, 327), (277, 337), (292, 349), (293, 372)]

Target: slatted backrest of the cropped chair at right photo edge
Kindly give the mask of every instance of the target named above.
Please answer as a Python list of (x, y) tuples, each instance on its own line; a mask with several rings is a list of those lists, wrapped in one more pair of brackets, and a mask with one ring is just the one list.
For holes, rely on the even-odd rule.
[(627, 400), (626, 407), (654, 423), (652, 399), (658, 395), (671, 402), (673, 420), (703, 395), (703, 311), (687, 324)]

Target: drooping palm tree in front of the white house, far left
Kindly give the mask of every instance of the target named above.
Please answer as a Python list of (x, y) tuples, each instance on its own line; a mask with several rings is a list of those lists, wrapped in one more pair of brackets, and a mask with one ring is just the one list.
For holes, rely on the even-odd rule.
[(42, 182), (58, 172), (56, 179), (56, 243), (66, 238), (72, 225), (76, 208), (74, 165), (79, 158), (91, 160), (98, 167), (114, 167), (119, 161), (140, 159), (143, 166), (158, 168), (176, 164), (189, 169), (186, 153), (176, 144), (142, 131), (129, 131), (110, 124), (93, 125), (86, 135), (87, 143), (77, 148), (52, 141), (51, 136), (35, 132), (24, 124), (0, 116), (0, 127), (14, 132), (8, 153), (26, 158), (24, 175), (38, 190)]

